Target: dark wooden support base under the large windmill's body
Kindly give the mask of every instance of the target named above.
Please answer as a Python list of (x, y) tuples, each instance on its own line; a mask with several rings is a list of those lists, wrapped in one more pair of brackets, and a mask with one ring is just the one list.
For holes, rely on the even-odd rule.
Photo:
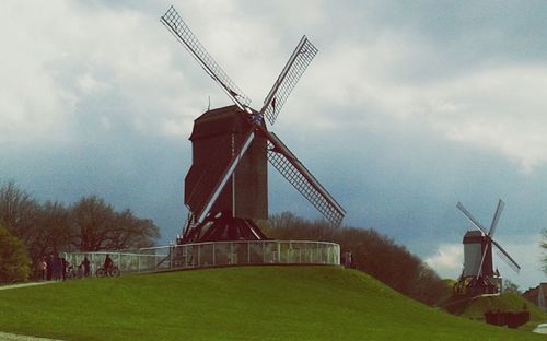
[(270, 239), (252, 219), (234, 217), (230, 212), (220, 212), (211, 214), (201, 224), (188, 226), (177, 244)]

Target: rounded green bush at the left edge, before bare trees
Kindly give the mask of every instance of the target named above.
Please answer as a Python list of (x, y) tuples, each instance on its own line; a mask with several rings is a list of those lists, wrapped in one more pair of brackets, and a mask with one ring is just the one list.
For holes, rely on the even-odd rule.
[(31, 259), (24, 244), (0, 223), (0, 283), (24, 282), (31, 274)]

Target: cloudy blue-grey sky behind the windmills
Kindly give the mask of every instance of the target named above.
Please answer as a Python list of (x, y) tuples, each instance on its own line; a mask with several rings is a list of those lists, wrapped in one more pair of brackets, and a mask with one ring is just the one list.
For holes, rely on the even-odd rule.
[[(457, 278), (464, 205), (540, 271), (547, 211), (545, 1), (2, 1), (0, 183), (70, 204), (96, 195), (185, 224), (194, 119), (230, 99), (160, 22), (173, 4), (261, 102), (302, 35), (319, 52), (271, 130), (346, 209)], [(319, 214), (275, 169), (270, 213)]]

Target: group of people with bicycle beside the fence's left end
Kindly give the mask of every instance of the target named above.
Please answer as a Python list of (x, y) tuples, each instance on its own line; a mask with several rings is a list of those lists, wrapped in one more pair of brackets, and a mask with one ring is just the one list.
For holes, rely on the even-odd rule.
[[(104, 269), (107, 274), (110, 273), (113, 264), (110, 256), (106, 255)], [(59, 257), (57, 252), (44, 257), (38, 263), (38, 277), (43, 281), (66, 281), (71, 274), (75, 274), (78, 278), (91, 275), (91, 262), (86, 256), (78, 266), (78, 269), (74, 269), (65, 258)]]

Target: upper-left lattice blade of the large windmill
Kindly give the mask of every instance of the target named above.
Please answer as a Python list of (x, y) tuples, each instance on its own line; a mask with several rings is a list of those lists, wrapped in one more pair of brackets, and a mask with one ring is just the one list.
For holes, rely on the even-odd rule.
[(199, 62), (201, 68), (222, 86), (232, 101), (245, 110), (248, 107), (251, 99), (243, 93), (243, 91), (235, 85), (235, 83), (228, 77), (222, 68), (209, 55), (206, 48), (199, 43), (198, 38), (194, 35), (190, 27), (186, 25), (181, 15), (174, 7), (171, 7), (162, 16), (162, 23), (173, 35), (181, 42), (191, 54), (191, 56)]

